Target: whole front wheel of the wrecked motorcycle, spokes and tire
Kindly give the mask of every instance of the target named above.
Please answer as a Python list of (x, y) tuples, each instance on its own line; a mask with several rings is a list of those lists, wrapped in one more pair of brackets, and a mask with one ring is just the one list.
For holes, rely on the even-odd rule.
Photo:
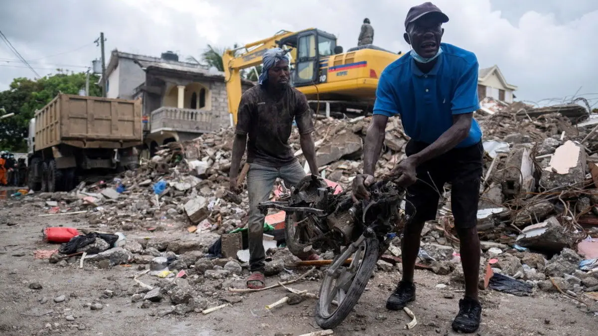
[[(334, 258), (324, 272), (316, 303), (315, 319), (321, 328), (334, 328), (349, 315), (376, 267), (379, 249), (380, 242), (376, 237), (361, 236)], [(343, 262), (353, 253), (353, 261), (348, 267), (344, 267)], [(336, 306), (334, 310), (332, 305)]]

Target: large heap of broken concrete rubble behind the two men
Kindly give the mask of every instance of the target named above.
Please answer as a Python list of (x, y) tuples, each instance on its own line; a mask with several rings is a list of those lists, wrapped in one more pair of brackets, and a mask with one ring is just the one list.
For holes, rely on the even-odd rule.
[[(486, 110), (476, 114), (484, 132), (478, 207), (484, 252), (480, 279), (501, 274), (505, 276), (499, 279), (501, 286), (509, 279), (523, 282), (520, 292), (527, 288), (560, 289), (575, 296), (598, 291), (596, 127), (574, 125), (570, 115), (558, 109), (530, 114), (533, 108), (521, 103), (497, 103)], [(322, 176), (343, 187), (350, 185), (353, 176), (362, 171), (363, 142), (370, 121), (371, 117), (316, 118), (312, 136)], [(139, 264), (140, 271), (147, 271), (143, 275), (154, 280), (137, 286), (130, 294), (142, 308), (168, 301), (173, 308), (161, 314), (202, 311), (218, 304), (210, 301), (214, 293), (245, 287), (243, 279), (248, 274), (246, 264), (236, 256), (220, 259), (210, 254), (219, 236), (240, 230), (247, 222), (246, 193), (235, 197), (228, 192), (233, 139), (233, 129), (229, 128), (190, 141), (167, 143), (135, 172), (125, 172), (112, 181), (82, 183), (71, 193), (42, 193), (34, 200), (44, 201), (50, 213), (86, 212), (92, 229), (187, 228), (193, 239), (129, 239), (123, 246), (96, 242), (92, 248), (102, 251), (94, 251), (99, 253), (85, 260), (103, 262), (106, 267)], [(377, 175), (388, 172), (405, 157), (408, 140), (399, 118), (390, 118)], [(296, 129), (289, 143), (304, 164)], [(451, 274), (454, 281), (462, 281), (450, 189), (449, 184), (439, 190), (443, 197), (438, 219), (426, 223), (417, 267)], [(224, 242), (223, 236), (222, 245)], [(393, 242), (378, 261), (379, 271), (400, 269), (398, 246)], [(284, 255), (288, 253), (285, 249), (269, 249), (269, 253), (274, 254), (267, 262), (267, 275), (289, 277), (286, 267), (297, 259)], [(57, 257), (66, 258), (60, 253)], [(227, 300), (233, 303), (240, 299)]]

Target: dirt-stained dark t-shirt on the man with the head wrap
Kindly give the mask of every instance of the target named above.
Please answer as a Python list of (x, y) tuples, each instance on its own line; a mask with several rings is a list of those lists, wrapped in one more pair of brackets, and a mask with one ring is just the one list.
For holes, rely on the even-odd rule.
[(288, 143), (295, 120), (301, 135), (315, 130), (305, 94), (287, 87), (278, 97), (256, 85), (243, 93), (237, 111), (236, 134), (249, 135), (248, 163), (282, 167), (295, 160)]

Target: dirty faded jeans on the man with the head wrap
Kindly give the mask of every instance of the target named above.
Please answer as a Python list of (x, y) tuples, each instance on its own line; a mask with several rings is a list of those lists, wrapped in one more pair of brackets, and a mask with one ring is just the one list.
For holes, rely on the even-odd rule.
[(297, 185), (306, 173), (299, 161), (295, 160), (283, 167), (268, 167), (257, 163), (249, 164), (247, 190), (249, 194), (249, 268), (263, 271), (266, 251), (264, 251), (264, 216), (258, 204), (269, 200), (276, 178), (285, 181), (287, 187)]

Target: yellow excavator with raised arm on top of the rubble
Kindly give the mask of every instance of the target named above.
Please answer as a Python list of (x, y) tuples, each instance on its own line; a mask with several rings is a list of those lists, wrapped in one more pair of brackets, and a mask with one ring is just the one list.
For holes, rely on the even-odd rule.
[(371, 112), (380, 73), (402, 56), (372, 44), (343, 52), (336, 36), (316, 28), (280, 30), (269, 38), (226, 50), (222, 63), (233, 124), (237, 124), (242, 95), (241, 71), (260, 65), (264, 52), (275, 47), (292, 48), (291, 85), (306, 94), (316, 113), (325, 106), (327, 115)]

